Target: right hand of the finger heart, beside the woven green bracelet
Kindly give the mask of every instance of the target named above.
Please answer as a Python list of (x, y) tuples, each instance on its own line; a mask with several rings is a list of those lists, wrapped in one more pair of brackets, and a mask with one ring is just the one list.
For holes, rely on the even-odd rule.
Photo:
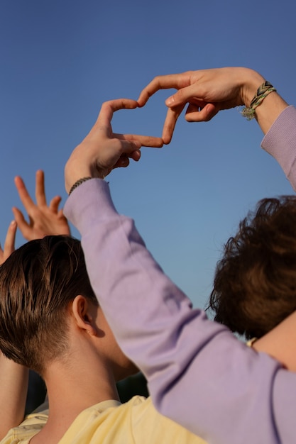
[(187, 106), (188, 122), (209, 121), (222, 109), (249, 106), (258, 87), (265, 79), (254, 70), (243, 67), (226, 67), (168, 74), (153, 79), (141, 91), (139, 106), (143, 106), (159, 89), (175, 88), (165, 104), (168, 113), (163, 127), (163, 141), (169, 143), (182, 110)]

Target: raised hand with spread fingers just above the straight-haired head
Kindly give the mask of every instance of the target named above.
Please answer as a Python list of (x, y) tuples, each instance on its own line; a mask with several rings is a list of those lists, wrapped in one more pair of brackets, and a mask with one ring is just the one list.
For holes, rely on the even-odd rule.
[(34, 204), (33, 199), (28, 194), (26, 185), (21, 177), (15, 178), (15, 184), (18, 195), (28, 213), (29, 221), (26, 221), (21, 210), (16, 207), (13, 207), (12, 211), (18, 228), (26, 240), (40, 239), (45, 235), (70, 235), (67, 219), (62, 213), (62, 209), (58, 209), (61, 197), (55, 196), (51, 199), (49, 205), (46, 203), (43, 171), (38, 170), (36, 172), (36, 204)]

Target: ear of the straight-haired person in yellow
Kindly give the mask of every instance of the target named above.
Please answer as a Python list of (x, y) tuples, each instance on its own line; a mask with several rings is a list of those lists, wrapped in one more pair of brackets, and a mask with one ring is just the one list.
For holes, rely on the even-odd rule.
[(94, 306), (87, 298), (79, 294), (72, 301), (72, 315), (75, 318), (77, 327), (82, 328), (86, 333), (97, 336), (97, 325), (94, 317)]

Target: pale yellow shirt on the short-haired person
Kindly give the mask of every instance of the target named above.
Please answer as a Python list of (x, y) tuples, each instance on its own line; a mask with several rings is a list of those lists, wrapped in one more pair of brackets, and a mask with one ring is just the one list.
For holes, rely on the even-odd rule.
[[(0, 444), (28, 444), (46, 422), (47, 411), (29, 415)], [(35, 422), (34, 422), (35, 418)], [(59, 444), (205, 444), (155, 410), (150, 398), (133, 396), (125, 404), (104, 401), (81, 412)]]

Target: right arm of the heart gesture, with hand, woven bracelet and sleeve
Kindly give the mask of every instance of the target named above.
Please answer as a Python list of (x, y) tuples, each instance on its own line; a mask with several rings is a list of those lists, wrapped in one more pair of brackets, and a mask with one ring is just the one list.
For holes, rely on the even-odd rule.
[[(177, 118), (185, 106), (188, 122), (209, 121), (221, 110), (251, 106), (253, 117), (265, 134), (262, 148), (275, 157), (296, 190), (296, 109), (288, 106), (278, 92), (269, 86), (267, 90), (260, 89), (261, 97), (257, 105), (252, 105), (254, 97), (258, 96), (258, 88), (264, 83), (261, 74), (243, 67), (169, 74), (155, 77), (141, 92), (138, 104), (146, 104), (149, 97), (159, 89), (177, 89), (165, 101), (168, 113), (163, 126), (164, 143), (170, 143)], [(261, 94), (262, 91), (265, 92)]]

